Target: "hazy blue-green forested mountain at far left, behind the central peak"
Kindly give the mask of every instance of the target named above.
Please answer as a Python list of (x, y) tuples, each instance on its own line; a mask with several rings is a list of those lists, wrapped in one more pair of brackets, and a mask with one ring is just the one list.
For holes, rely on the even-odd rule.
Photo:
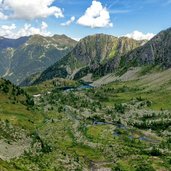
[(76, 45), (65, 35), (34, 35), (20, 39), (0, 38), (0, 76), (20, 84), (32, 74), (42, 72)]

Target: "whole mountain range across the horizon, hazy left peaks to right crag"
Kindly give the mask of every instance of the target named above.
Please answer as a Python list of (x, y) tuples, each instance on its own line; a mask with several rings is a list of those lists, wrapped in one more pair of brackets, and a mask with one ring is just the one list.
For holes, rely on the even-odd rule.
[(150, 41), (105, 34), (79, 42), (65, 36), (34, 35), (0, 39), (0, 75), (16, 85), (27, 86), (56, 77), (96, 80), (108, 73), (123, 74), (130, 67), (171, 66), (171, 29)]

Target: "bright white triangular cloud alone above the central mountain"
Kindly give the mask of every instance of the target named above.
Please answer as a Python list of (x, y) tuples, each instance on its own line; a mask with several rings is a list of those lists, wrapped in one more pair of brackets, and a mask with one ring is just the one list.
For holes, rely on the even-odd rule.
[(85, 14), (78, 19), (77, 23), (91, 28), (113, 26), (109, 11), (102, 6), (101, 2), (96, 0), (92, 1), (92, 5), (87, 8)]

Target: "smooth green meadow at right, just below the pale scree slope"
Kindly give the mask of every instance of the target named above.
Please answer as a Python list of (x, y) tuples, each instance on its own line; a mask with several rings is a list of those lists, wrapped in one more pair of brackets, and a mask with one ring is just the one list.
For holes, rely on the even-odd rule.
[(127, 103), (132, 99), (142, 97), (143, 99), (149, 100), (152, 102), (150, 109), (154, 110), (171, 110), (171, 91), (167, 89), (157, 89), (146, 90), (148, 87), (145, 85), (140, 85), (139, 81), (128, 81), (128, 82), (116, 82), (111, 83), (107, 86), (104, 86), (104, 89), (121, 89), (123, 87), (128, 87), (128, 91), (118, 92), (116, 91), (106, 91), (99, 88), (97, 94), (101, 94), (104, 97), (107, 97), (103, 101), (103, 98), (98, 98), (99, 101), (102, 101), (105, 105), (113, 106), (114, 104)]

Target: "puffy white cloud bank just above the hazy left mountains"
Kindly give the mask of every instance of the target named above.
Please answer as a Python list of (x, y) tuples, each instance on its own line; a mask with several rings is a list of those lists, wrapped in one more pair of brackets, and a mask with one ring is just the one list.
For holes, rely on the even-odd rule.
[(17, 29), (15, 24), (2, 25), (0, 26), (0, 36), (12, 39), (34, 34), (50, 36), (51, 33), (46, 30), (47, 27), (48, 25), (45, 22), (42, 22), (40, 28), (33, 27), (31, 24), (25, 24), (20, 29)]

